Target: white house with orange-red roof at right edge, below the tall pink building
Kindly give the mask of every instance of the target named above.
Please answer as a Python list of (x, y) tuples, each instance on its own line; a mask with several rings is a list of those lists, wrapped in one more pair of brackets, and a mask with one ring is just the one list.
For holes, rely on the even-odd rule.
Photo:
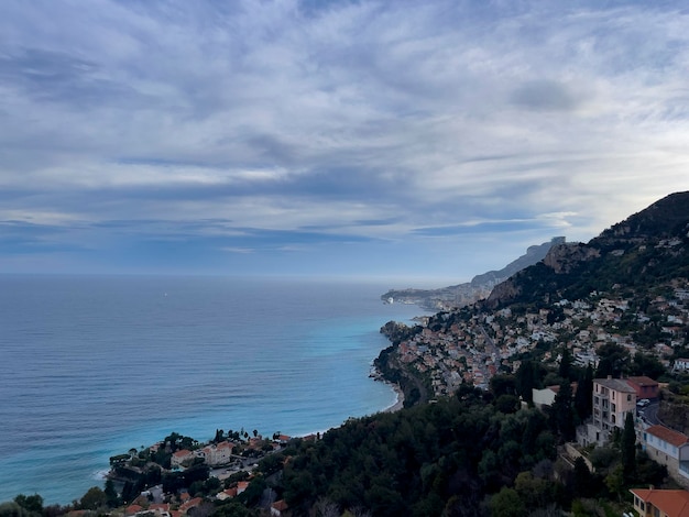
[(667, 468), (668, 474), (689, 488), (689, 437), (665, 426), (643, 431), (642, 448), (648, 458)]

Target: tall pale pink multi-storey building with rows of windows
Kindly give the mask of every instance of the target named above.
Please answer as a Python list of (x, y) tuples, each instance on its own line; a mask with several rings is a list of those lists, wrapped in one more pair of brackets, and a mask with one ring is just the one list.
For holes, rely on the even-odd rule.
[(636, 392), (622, 378), (593, 380), (593, 415), (577, 430), (577, 441), (582, 446), (595, 443), (605, 444), (614, 429), (624, 428), (627, 414), (636, 411)]

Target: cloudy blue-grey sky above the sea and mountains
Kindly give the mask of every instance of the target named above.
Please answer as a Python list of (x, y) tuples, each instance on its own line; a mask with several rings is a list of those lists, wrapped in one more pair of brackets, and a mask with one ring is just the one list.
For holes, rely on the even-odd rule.
[(588, 241), (689, 189), (683, 6), (4, 0), (0, 273), (442, 285)]

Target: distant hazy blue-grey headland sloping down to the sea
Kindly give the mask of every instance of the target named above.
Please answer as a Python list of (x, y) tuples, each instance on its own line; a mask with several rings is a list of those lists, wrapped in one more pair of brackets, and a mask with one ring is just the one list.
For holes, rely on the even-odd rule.
[(482, 273), (474, 276), (471, 282), (439, 289), (391, 289), (381, 295), (381, 299), (383, 301), (392, 299), (395, 302), (414, 304), (430, 310), (466, 307), (488, 297), (495, 285), (506, 280), (525, 267), (538, 263), (545, 258), (554, 245), (564, 243), (564, 237), (556, 237), (549, 242), (529, 246), (524, 255), (512, 261), (502, 270)]

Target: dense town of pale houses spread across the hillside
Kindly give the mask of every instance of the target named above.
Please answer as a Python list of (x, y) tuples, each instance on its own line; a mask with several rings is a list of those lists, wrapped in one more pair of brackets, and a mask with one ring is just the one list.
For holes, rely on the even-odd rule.
[(558, 344), (580, 366), (598, 367), (598, 351), (613, 343), (632, 358), (639, 354), (637, 361), (659, 363), (657, 373), (689, 372), (689, 356), (681, 355), (689, 284), (669, 286), (653, 299), (593, 292), (587, 299), (562, 299), (544, 308), (512, 306), (489, 314), (463, 309), (424, 320), (396, 343), (395, 354), (425, 381), (430, 398), (451, 394), (461, 383), (485, 388), (495, 374), (516, 372), (525, 358), (557, 364), (560, 356), (553, 351)]

